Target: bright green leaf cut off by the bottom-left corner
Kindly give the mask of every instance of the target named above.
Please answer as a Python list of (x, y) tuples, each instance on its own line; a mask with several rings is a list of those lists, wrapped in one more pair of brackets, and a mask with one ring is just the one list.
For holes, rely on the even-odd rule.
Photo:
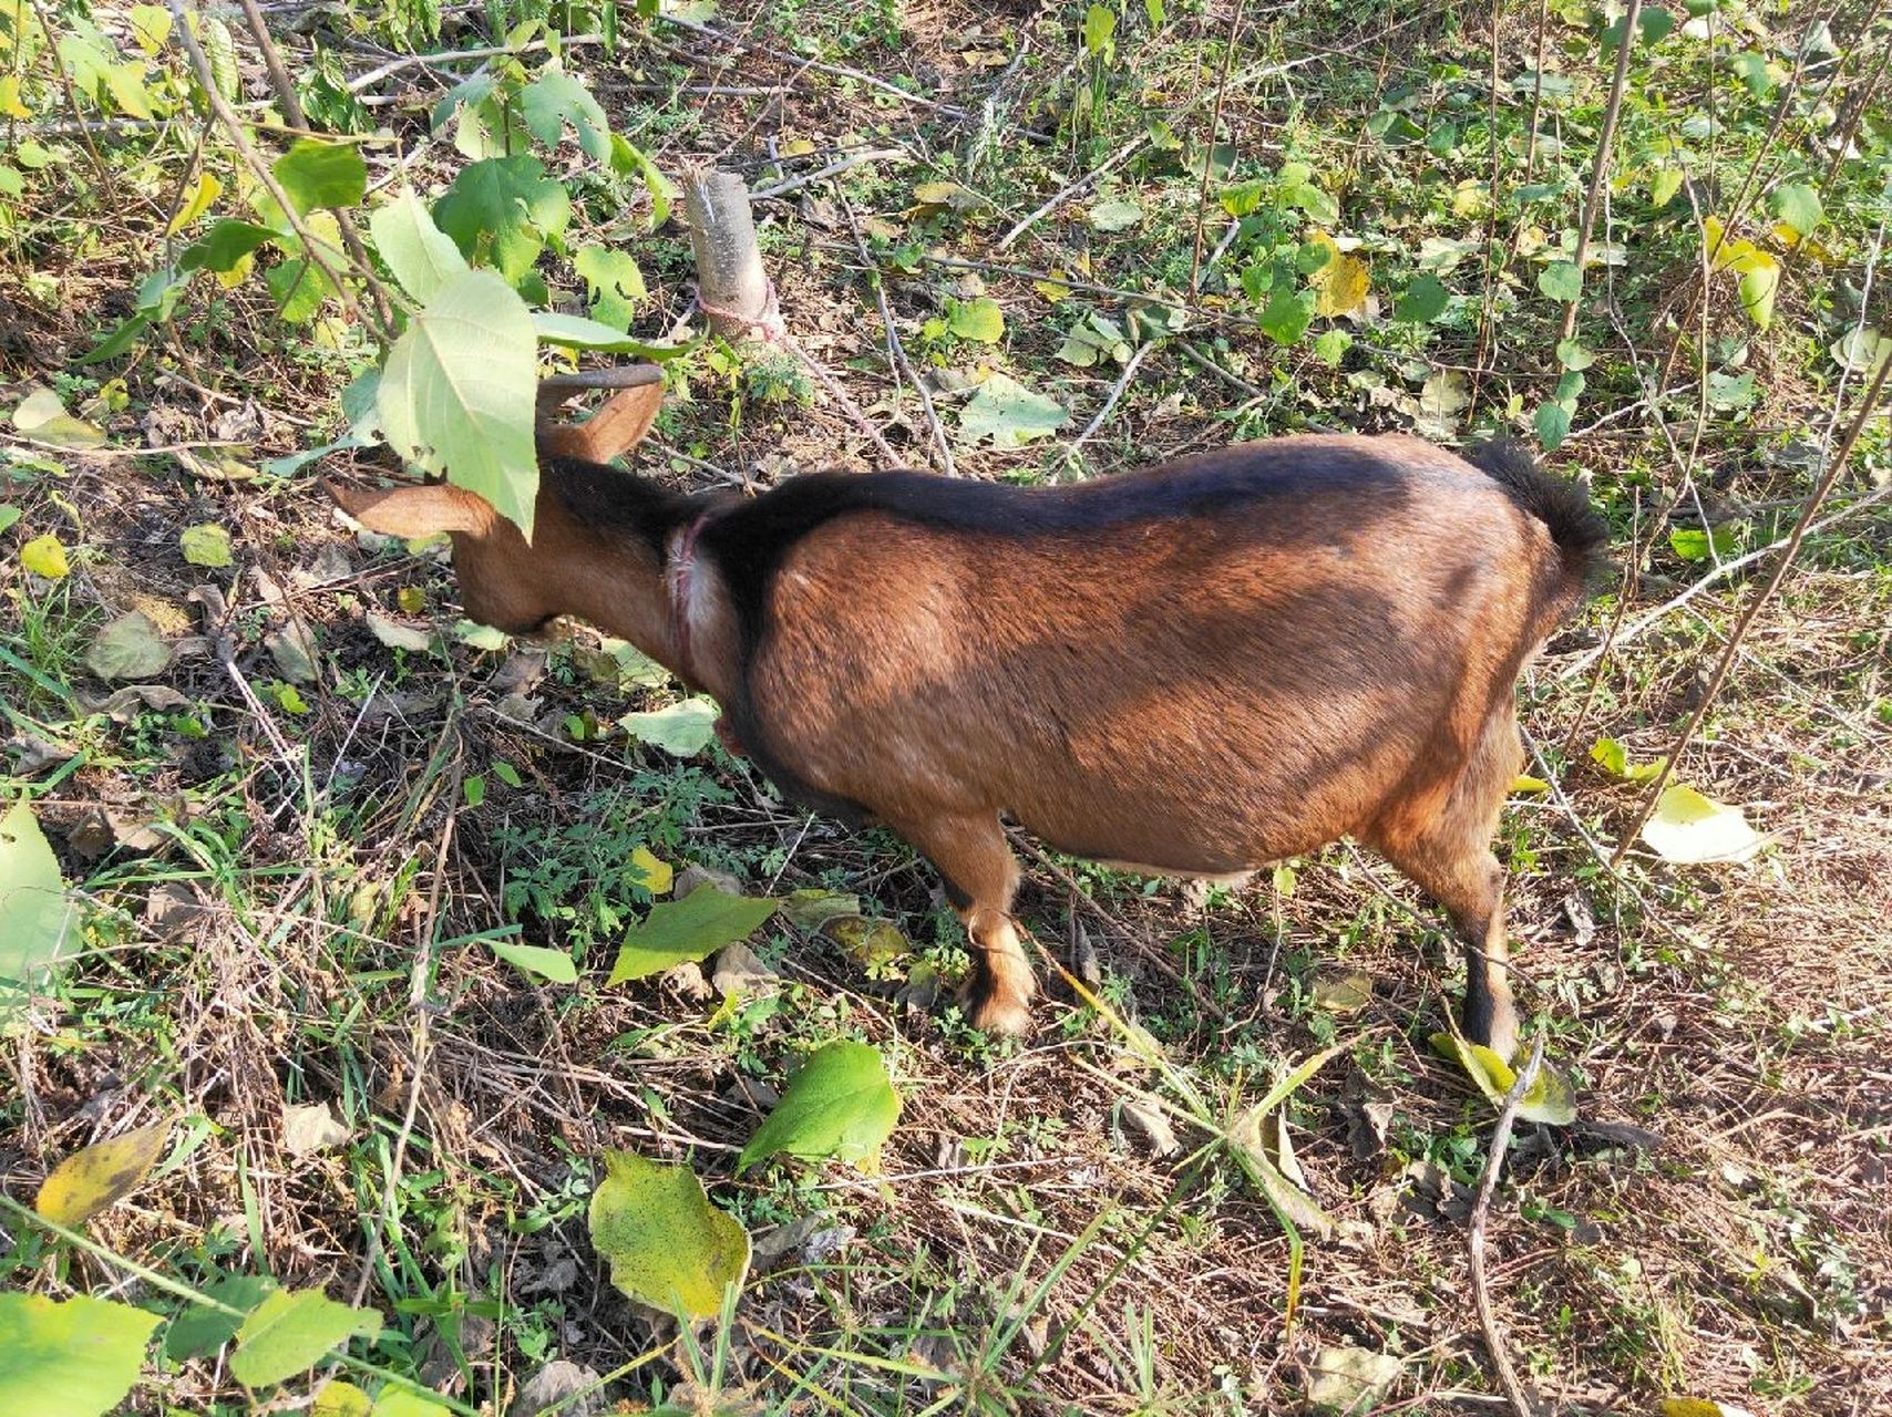
[(89, 1294), (0, 1294), (0, 1411), (104, 1417), (138, 1381), (159, 1319)]

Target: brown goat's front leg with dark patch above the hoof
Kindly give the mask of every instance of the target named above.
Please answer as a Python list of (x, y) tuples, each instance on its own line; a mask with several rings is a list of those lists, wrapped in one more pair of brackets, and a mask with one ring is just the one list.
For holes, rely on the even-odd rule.
[(1039, 986), (1012, 923), (1018, 861), (1005, 844), (999, 817), (938, 817), (897, 831), (933, 863), (946, 883), (946, 899), (965, 921), (974, 961), (965, 991), (972, 1027), (1027, 1035)]

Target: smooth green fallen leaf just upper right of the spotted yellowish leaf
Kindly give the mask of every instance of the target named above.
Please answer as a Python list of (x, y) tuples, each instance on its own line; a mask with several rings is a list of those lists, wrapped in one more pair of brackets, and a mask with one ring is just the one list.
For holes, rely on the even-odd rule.
[(838, 1039), (802, 1063), (787, 1092), (736, 1158), (747, 1171), (770, 1156), (804, 1162), (838, 1158), (867, 1175), (880, 1171), (880, 1148), (901, 1116), (901, 1093), (878, 1048)]

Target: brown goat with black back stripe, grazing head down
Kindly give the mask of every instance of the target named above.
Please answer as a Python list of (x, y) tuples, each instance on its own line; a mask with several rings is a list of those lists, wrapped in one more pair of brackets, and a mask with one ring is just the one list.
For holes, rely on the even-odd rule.
[(1090, 482), (812, 473), (679, 496), (566, 454), (641, 437), (660, 392), (541, 439), (534, 541), (452, 486), (331, 488), (378, 532), (450, 532), (467, 615), (579, 615), (725, 709), (789, 796), (938, 868), (972, 1022), (1035, 993), (1001, 813), (1135, 870), (1239, 874), (1343, 834), (1449, 912), (1464, 1031), (1510, 1056), (1502, 868), (1517, 674), (1606, 526), (1521, 450), (1285, 437)]

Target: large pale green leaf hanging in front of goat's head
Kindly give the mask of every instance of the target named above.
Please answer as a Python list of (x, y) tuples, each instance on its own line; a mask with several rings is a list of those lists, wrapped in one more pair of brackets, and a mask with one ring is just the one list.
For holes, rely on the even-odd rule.
[(395, 341), (375, 395), (395, 452), (486, 498), (528, 537), (535, 348), (524, 301), (490, 271), (467, 271)]

